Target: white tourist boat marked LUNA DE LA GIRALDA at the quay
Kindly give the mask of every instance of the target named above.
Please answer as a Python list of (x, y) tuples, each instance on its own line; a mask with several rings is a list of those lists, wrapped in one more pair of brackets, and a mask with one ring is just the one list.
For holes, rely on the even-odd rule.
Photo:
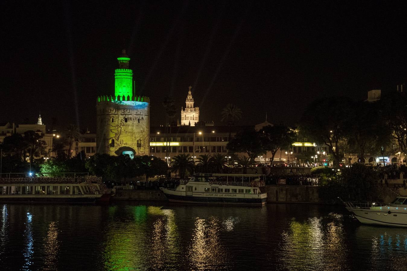
[(257, 174), (197, 173), (175, 189), (160, 189), (170, 202), (261, 205), (267, 201), (264, 175)]

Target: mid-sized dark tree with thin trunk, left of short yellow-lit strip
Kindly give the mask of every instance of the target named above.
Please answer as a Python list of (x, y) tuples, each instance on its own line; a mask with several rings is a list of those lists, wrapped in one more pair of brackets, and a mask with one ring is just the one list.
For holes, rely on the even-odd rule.
[(273, 165), (274, 156), (278, 150), (288, 150), (295, 139), (295, 131), (284, 125), (267, 125), (259, 133), (264, 149), (271, 152), (270, 165)]

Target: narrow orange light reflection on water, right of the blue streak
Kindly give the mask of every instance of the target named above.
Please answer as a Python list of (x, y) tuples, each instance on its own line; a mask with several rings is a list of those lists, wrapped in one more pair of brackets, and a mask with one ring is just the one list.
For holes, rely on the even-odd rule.
[(51, 222), (44, 238), (44, 264), (50, 270), (57, 269), (57, 256), (59, 252), (58, 228), (55, 222)]

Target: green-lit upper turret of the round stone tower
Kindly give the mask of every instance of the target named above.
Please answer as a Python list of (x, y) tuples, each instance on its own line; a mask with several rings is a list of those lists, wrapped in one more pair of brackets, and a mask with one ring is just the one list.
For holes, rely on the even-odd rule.
[(129, 69), (130, 58), (126, 54), (126, 50), (122, 50), (122, 54), (117, 58), (119, 68), (114, 70), (114, 95), (133, 98), (133, 71)]

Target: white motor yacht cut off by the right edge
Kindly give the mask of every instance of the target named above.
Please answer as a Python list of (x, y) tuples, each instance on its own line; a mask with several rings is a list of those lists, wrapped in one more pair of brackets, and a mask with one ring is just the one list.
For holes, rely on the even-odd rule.
[(396, 197), (389, 204), (344, 202), (346, 209), (363, 224), (407, 227), (407, 197)]

